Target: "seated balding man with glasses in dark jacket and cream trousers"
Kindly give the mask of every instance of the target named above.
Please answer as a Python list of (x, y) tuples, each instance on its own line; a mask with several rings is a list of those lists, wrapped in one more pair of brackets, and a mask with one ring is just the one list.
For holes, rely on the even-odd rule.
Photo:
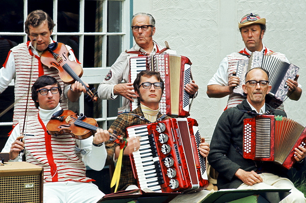
[[(219, 172), (218, 189), (285, 189), (289, 194), (281, 202), (305, 202), (304, 194), (287, 179), (286, 170), (271, 161), (261, 162), (245, 159), (243, 149), (243, 120), (259, 114), (286, 116), (282, 110), (275, 110), (265, 104), (265, 96), (271, 90), (268, 72), (253, 68), (246, 73), (244, 93), (247, 99), (236, 107), (226, 109), (220, 116), (211, 139), (208, 161)], [(296, 163), (304, 164), (306, 149), (295, 148)]]

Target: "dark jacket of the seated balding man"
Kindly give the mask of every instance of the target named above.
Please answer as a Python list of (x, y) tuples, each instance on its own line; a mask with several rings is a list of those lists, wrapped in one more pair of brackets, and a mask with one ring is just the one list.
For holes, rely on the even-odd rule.
[[(275, 110), (271, 106), (265, 105), (266, 111)], [(287, 170), (282, 166), (270, 161), (259, 162), (245, 159), (236, 151), (236, 147), (239, 147), (240, 150), (242, 149), (243, 120), (254, 117), (239, 109), (252, 110), (246, 100), (236, 107), (226, 109), (220, 116), (211, 139), (208, 162), (219, 172), (218, 189), (230, 189), (240, 186), (243, 182), (235, 177), (235, 173), (239, 168), (249, 172), (260, 169), (281, 177), (287, 177)], [(281, 110), (275, 110), (270, 115), (286, 116), (286, 113)]]

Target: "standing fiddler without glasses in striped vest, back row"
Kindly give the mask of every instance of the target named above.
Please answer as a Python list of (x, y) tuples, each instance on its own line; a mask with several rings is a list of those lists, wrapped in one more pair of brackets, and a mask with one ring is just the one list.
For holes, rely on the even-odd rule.
[[(30, 84), (32, 85), (39, 76), (49, 75), (57, 79), (63, 89), (61, 94), (61, 107), (63, 109), (68, 108), (67, 98), (74, 102), (80, 97), (82, 91), (86, 92), (85, 87), (82, 87), (79, 82), (75, 82), (71, 86), (64, 84), (56, 69), (48, 68), (40, 61), (43, 51), (47, 49), (50, 43), (54, 42), (50, 36), (55, 24), (50, 16), (42, 10), (35, 10), (29, 13), (24, 24), (24, 30), (30, 41), (13, 47), (0, 69), (0, 93), (6, 89), (12, 79), (15, 82), (13, 126), (24, 118), (25, 108), (28, 108), (28, 115), (37, 114), (38, 109), (35, 108), (31, 100), (31, 93), (28, 95), (28, 89)], [(69, 50), (69, 60), (77, 61), (71, 48), (66, 47)], [(27, 100), (29, 102), (28, 106), (26, 105)]]

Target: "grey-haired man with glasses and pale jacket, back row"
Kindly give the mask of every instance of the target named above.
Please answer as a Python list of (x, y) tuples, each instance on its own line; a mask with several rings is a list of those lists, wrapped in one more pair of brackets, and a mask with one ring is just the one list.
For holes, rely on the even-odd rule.
[[(116, 99), (118, 95), (123, 98), (123, 105), (118, 109), (118, 114), (129, 112), (129, 101), (134, 101), (136, 95), (132, 83), (129, 83), (129, 59), (131, 57), (142, 56), (141, 53), (154, 55), (162, 48), (153, 41), (155, 34), (155, 19), (148, 13), (136, 13), (133, 15), (131, 23), (132, 33), (136, 44), (129, 50), (132, 53), (122, 52), (115, 63), (110, 67), (110, 72), (106, 75), (98, 87), (98, 95), (101, 99)], [(166, 50), (166, 54), (176, 54), (173, 50)], [(124, 83), (121, 83), (122, 80)], [(198, 86), (192, 80), (186, 84), (185, 90), (193, 95), (198, 90)]]

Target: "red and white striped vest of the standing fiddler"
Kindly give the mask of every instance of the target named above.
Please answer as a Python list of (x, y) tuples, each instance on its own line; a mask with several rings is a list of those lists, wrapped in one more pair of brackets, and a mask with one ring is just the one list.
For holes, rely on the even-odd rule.
[[(16, 69), (13, 126), (15, 126), (20, 120), (24, 119), (29, 88), (30, 91), (28, 96), (29, 104), (27, 114), (36, 115), (38, 113), (38, 109), (36, 109), (35, 103), (32, 100), (31, 87), (36, 79), (42, 75), (52, 76), (59, 82), (62, 88), (61, 107), (64, 110), (68, 109), (67, 98), (64, 96), (64, 83), (58, 76), (58, 71), (56, 69), (50, 69), (47, 66), (42, 65), (40, 57), (36, 55), (34, 55), (34, 57), (32, 56), (32, 51), (31, 49), (28, 49), (28, 45), (29, 42), (21, 43), (11, 49), (14, 54)], [(70, 47), (67, 46), (67, 48), (70, 50)], [(30, 78), (31, 83), (29, 85)]]

